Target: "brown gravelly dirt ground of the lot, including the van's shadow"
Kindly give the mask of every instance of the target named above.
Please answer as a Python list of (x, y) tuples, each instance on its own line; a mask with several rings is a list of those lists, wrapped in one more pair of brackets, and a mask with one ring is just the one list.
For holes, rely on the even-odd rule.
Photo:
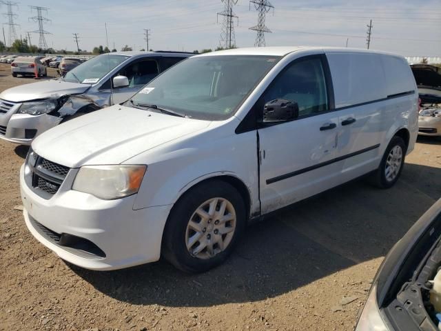
[[(0, 90), (33, 79), (0, 65)], [(48, 72), (54, 74), (53, 70)], [(390, 190), (342, 185), (252, 225), (205, 274), (165, 261), (66, 265), (23, 221), (27, 148), (0, 141), (0, 330), (352, 330), (384, 254), (441, 197), (441, 139), (418, 139)], [(349, 301), (349, 303), (348, 303)]]

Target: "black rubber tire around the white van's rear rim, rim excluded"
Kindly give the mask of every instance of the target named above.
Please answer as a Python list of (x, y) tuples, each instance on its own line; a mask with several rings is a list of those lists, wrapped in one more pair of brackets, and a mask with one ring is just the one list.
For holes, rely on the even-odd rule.
[[(399, 147), (402, 151), (402, 158), (400, 163), (400, 169), (398, 170), (398, 173), (396, 176), (389, 180), (386, 177), (386, 167), (387, 167), (387, 159), (389, 157), (389, 153), (393, 148)], [(387, 146), (386, 150), (384, 151), (384, 155), (381, 159), (380, 166), (378, 169), (371, 174), (371, 177), (369, 178), (369, 181), (371, 184), (378, 188), (391, 188), (400, 178), (400, 174), (402, 172), (402, 168), (404, 167), (404, 158), (406, 157), (406, 151), (407, 146), (406, 143), (404, 143), (404, 140), (401, 137), (394, 136), (391, 141), (389, 142), (389, 145)]]

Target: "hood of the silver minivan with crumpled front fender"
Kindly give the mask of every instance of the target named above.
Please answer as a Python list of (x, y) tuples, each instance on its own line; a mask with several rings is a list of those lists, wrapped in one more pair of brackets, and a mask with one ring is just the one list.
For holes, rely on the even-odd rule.
[(89, 84), (70, 83), (59, 79), (30, 83), (1, 92), (0, 99), (11, 102), (23, 102), (37, 99), (62, 97), (66, 94), (83, 93), (90, 88)]

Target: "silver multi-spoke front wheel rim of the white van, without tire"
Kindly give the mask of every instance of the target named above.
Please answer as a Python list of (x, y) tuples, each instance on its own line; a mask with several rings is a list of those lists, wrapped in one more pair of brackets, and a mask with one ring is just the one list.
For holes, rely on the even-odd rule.
[(211, 259), (231, 243), (236, 230), (236, 211), (227, 199), (216, 197), (201, 203), (190, 217), (185, 245), (192, 257)]

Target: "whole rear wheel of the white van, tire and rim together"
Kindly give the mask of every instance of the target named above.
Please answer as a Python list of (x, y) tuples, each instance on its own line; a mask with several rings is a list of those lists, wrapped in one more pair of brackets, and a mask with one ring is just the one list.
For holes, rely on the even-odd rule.
[(406, 156), (406, 143), (395, 136), (384, 151), (380, 166), (371, 175), (371, 183), (378, 188), (391, 188), (400, 177)]

